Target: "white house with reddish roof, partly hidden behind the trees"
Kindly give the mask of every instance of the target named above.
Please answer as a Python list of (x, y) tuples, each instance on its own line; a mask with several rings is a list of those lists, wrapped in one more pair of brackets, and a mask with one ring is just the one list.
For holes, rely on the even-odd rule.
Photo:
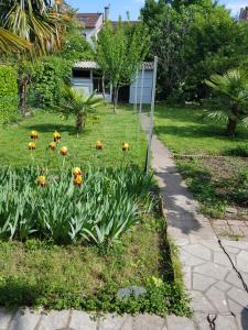
[(109, 16), (109, 8), (105, 8), (105, 13), (77, 13), (82, 25), (82, 34), (93, 45), (93, 37), (97, 38), (98, 33), (103, 29)]

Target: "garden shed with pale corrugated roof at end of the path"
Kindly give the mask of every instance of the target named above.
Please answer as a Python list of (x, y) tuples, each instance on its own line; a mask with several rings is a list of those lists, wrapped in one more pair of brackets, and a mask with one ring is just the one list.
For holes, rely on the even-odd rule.
[[(137, 73), (130, 86), (123, 86), (119, 91), (119, 101), (127, 103), (150, 105), (152, 100), (153, 63), (144, 62)], [(77, 90), (97, 95), (103, 95), (103, 77), (96, 62), (83, 61), (74, 65), (72, 72), (72, 86)], [(109, 81), (105, 81), (106, 99), (111, 101), (112, 88)]]

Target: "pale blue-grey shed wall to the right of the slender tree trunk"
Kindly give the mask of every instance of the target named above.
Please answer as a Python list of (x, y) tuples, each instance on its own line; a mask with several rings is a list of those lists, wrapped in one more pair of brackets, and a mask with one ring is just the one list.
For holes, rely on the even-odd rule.
[[(136, 102), (136, 94), (137, 94), (137, 102), (140, 102), (141, 98), (141, 87), (142, 87), (142, 72), (138, 74), (138, 79), (136, 79), (130, 86), (130, 98), (129, 103), (133, 105)], [(153, 70), (144, 70), (144, 79), (143, 79), (143, 96), (142, 103), (150, 105), (152, 99), (152, 84), (153, 84)], [(137, 88), (137, 91), (136, 91)]]

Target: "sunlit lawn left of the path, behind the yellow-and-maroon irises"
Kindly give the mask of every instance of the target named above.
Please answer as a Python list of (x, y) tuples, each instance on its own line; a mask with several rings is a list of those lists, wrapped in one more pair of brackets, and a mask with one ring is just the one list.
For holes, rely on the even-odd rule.
[[(34, 116), (23, 119), (19, 123), (9, 124), (0, 131), (0, 165), (23, 166), (32, 163), (28, 143), (31, 141), (30, 131), (36, 130), (40, 139), (36, 151), (33, 152), (34, 163), (44, 166), (60, 166), (62, 156), (60, 146), (68, 147), (67, 163), (73, 166), (80, 164), (120, 165), (125, 163), (144, 166), (145, 138), (139, 127), (137, 114), (128, 107), (120, 107), (117, 114), (110, 106), (103, 106), (97, 110), (100, 117), (98, 123), (86, 124), (85, 131), (77, 138), (75, 120), (64, 120), (58, 114), (36, 110)], [(53, 132), (62, 133), (61, 144), (55, 152), (46, 150), (53, 140)], [(104, 151), (96, 152), (97, 140), (104, 142)], [(130, 152), (123, 156), (122, 142), (130, 144)]]

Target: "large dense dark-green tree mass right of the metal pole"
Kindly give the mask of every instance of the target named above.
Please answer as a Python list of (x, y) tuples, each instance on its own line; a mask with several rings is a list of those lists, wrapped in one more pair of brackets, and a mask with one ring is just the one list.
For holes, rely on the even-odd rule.
[(248, 24), (209, 0), (187, 4), (177, 10), (162, 0), (147, 0), (141, 10), (151, 34), (150, 56), (160, 58), (162, 98), (205, 98), (205, 79), (247, 63)]

